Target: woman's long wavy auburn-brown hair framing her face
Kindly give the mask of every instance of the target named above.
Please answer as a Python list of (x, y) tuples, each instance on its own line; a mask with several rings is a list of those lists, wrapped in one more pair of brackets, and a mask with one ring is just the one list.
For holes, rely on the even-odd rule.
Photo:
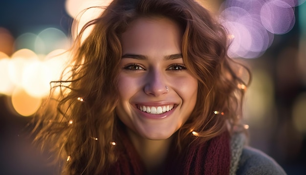
[[(51, 95), (34, 118), (35, 141), (42, 147), (52, 144), (63, 174), (98, 174), (116, 160), (110, 143), (117, 137), (119, 120), (115, 108), (121, 34), (140, 17), (169, 18), (184, 31), (183, 61), (197, 78), (198, 93), (193, 113), (177, 132), (177, 146), (183, 147), (192, 131), (199, 136), (193, 138), (205, 142), (240, 126), (244, 89), (238, 85), (249, 85), (250, 72), (227, 56), (226, 29), (208, 10), (195, 0), (113, 0), (82, 28), (71, 48), (70, 76), (52, 82)], [(89, 26), (93, 28), (83, 40)], [(248, 82), (242, 80), (241, 68)]]

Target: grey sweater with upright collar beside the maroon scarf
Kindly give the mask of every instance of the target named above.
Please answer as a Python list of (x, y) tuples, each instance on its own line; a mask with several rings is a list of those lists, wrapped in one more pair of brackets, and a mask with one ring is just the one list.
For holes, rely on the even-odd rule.
[(267, 154), (245, 146), (243, 133), (235, 133), (231, 140), (230, 175), (286, 175), (283, 168)]

